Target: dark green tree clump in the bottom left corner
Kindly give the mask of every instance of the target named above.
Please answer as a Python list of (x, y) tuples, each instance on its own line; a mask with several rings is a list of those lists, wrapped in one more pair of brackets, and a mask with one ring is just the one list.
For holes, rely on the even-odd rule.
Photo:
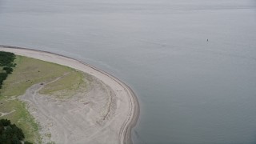
[[(10, 120), (0, 120), (0, 143), (22, 144), (24, 138), (22, 129), (18, 128), (15, 124), (11, 124)], [(25, 143), (29, 144), (30, 142)]]

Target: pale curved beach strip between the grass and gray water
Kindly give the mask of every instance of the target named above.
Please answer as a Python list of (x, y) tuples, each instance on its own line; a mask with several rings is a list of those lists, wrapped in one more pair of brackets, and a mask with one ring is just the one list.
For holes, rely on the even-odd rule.
[(118, 78), (115, 78), (113, 75), (108, 74), (103, 70), (98, 70), (94, 66), (90, 66), (84, 62), (60, 54), (1, 45), (0, 50), (30, 58), (36, 58), (46, 62), (58, 63), (63, 66), (69, 66), (76, 70), (81, 70), (87, 74), (93, 75), (95, 78), (104, 82), (107, 86), (110, 86), (117, 98), (120, 99), (117, 109), (122, 111), (122, 114), (119, 114), (118, 117), (114, 118), (114, 123), (116, 123), (116, 126), (118, 127), (115, 127), (115, 130), (117, 130), (115, 132), (117, 137), (116, 139), (112, 139), (112, 142), (132, 143), (131, 130), (136, 125), (139, 116), (138, 99), (130, 87), (121, 82)]

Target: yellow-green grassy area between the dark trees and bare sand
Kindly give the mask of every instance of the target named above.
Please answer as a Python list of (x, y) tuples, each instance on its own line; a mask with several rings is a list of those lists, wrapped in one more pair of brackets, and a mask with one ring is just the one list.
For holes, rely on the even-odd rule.
[[(40, 92), (42, 94), (68, 94), (72, 96), (78, 88), (86, 87), (84, 74), (67, 66), (60, 66), (51, 62), (44, 62), (34, 58), (17, 56), (17, 63), (13, 74), (10, 74), (0, 90), (0, 112), (10, 114), (0, 116), (8, 118), (20, 127), (26, 141), (38, 142), (38, 124), (26, 110), (25, 103), (18, 100), (17, 96), (25, 93), (30, 86), (40, 82), (51, 82)], [(40, 142), (40, 140), (39, 140)]]

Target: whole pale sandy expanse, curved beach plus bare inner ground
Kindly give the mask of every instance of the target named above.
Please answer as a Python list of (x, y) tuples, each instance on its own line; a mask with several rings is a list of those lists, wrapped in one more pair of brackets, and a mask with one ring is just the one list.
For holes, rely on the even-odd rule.
[[(40, 125), (43, 125), (42, 129), (45, 126), (43, 130), (46, 130), (46, 133), (50, 133), (47, 135), (50, 140), (56, 143), (132, 143), (131, 129), (136, 125), (139, 114), (138, 99), (130, 87), (118, 78), (98, 70), (94, 66), (60, 54), (14, 46), (0, 46), (0, 50), (69, 66), (93, 76), (93, 83), (96, 83), (97, 86), (92, 86), (88, 93), (78, 94), (69, 102), (58, 102), (56, 99), (49, 99), (49, 97), (46, 98), (38, 94), (38, 90), (41, 90), (44, 85), (31, 86), (26, 90), (26, 94), (22, 95), (21, 99), (29, 103), (30, 112), (36, 119), (44, 120), (40, 122)], [(101, 89), (105, 95), (108, 95), (108, 99), (111, 99), (111, 106), (107, 113), (109, 115), (101, 117), (101, 121), (97, 119), (98, 108), (93, 107), (94, 105), (90, 106), (90, 102), (86, 102), (91, 95), (102, 95), (101, 90), (98, 89)], [(86, 99), (83, 99), (83, 96)], [(99, 99), (102, 100), (102, 98)], [(95, 102), (97, 101), (95, 100)], [(66, 109), (66, 106), (70, 111)], [(38, 112), (35, 107), (41, 112)], [(66, 124), (69, 126), (65, 126)], [(65, 126), (64, 129), (63, 126)], [(63, 132), (58, 132), (58, 130)]]

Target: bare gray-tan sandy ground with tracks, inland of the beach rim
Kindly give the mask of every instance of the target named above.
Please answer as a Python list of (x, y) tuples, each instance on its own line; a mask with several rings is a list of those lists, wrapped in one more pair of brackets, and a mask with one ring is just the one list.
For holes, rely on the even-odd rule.
[[(60, 99), (38, 94), (47, 84), (31, 86), (19, 97), (39, 122), (43, 143), (97, 143), (104, 134), (114, 135), (110, 125), (117, 103), (109, 86), (91, 77), (89, 90)], [(104, 138), (105, 142), (112, 143), (108, 138)]]

